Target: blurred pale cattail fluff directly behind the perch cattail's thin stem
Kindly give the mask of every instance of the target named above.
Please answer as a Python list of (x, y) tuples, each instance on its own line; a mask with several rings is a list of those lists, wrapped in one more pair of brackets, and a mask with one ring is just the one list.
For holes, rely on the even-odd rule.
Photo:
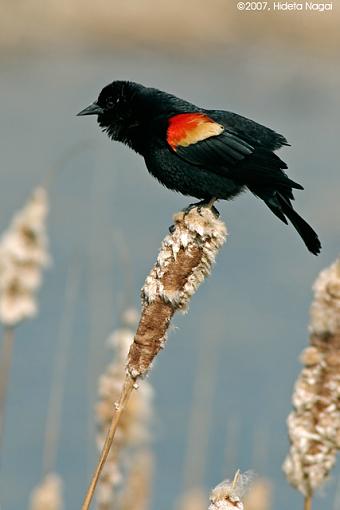
[[(132, 312), (125, 313), (123, 320), (130, 323)], [(115, 331), (108, 340), (114, 348), (114, 361), (99, 379), (99, 402), (96, 406), (98, 423), (97, 444), (102, 448), (110, 425), (114, 403), (118, 400), (125, 378), (126, 358), (133, 342), (133, 331), (127, 327)], [(116, 442), (110, 450), (98, 482), (97, 509), (111, 509), (117, 501), (117, 493), (124, 475), (128, 451), (145, 444), (149, 438), (148, 422), (151, 415), (150, 385), (143, 381), (139, 391), (134, 392), (116, 432)]]

